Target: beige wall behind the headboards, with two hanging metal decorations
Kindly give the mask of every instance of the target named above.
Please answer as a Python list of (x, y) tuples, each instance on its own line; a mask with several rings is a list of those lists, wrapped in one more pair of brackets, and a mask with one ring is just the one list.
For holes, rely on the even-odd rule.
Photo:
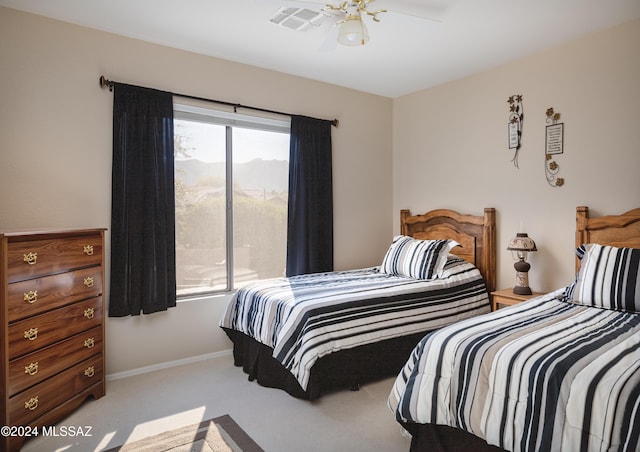
[[(519, 169), (507, 144), (508, 103), (523, 95)], [(561, 113), (561, 188), (545, 179), (547, 108)], [(574, 273), (575, 208), (640, 207), (640, 21), (394, 100), (393, 208), (497, 209), (498, 287), (515, 283), (506, 251), (520, 221), (536, 241), (533, 290)], [(398, 227), (394, 223), (396, 231)]]

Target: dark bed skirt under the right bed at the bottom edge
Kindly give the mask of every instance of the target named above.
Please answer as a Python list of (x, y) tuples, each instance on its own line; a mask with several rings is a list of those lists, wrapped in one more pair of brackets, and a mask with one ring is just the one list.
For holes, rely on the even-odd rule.
[(411, 433), (410, 452), (505, 452), (463, 430), (436, 424), (405, 424)]

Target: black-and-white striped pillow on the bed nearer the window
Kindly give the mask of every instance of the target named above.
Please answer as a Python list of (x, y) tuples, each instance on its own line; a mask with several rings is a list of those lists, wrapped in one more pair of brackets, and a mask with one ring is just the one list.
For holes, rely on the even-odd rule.
[(455, 240), (417, 240), (398, 235), (393, 238), (380, 271), (416, 279), (435, 279), (441, 275), (449, 251), (458, 245)]

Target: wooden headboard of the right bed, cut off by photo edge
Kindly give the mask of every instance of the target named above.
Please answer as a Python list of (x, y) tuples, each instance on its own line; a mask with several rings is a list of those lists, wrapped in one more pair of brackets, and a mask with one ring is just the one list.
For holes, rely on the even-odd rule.
[[(576, 208), (576, 248), (585, 243), (599, 243), (626, 248), (640, 248), (640, 208), (622, 215), (589, 218), (589, 208)], [(580, 260), (576, 258), (576, 271)]]

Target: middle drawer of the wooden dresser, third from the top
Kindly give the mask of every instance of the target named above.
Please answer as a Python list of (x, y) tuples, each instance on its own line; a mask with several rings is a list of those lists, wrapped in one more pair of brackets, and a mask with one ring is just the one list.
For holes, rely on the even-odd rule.
[(102, 323), (102, 297), (74, 303), (9, 325), (13, 360)]

